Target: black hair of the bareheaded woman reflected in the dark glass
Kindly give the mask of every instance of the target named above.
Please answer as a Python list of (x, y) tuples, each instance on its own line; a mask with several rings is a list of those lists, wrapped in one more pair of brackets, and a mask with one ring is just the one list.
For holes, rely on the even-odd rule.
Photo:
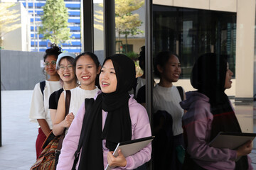
[(178, 55), (170, 51), (159, 52), (158, 55), (156, 55), (156, 57), (154, 58), (154, 74), (156, 74), (157, 77), (161, 77), (161, 74), (157, 69), (157, 65), (159, 65), (160, 67), (164, 67), (173, 55), (178, 57)]

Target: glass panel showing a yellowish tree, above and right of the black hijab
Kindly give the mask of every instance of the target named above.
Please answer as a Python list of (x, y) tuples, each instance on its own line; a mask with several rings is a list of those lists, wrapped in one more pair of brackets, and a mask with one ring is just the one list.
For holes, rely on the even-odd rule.
[(137, 77), (143, 71), (139, 67), (138, 55), (145, 45), (144, 0), (115, 0), (116, 52), (131, 57), (136, 64)]

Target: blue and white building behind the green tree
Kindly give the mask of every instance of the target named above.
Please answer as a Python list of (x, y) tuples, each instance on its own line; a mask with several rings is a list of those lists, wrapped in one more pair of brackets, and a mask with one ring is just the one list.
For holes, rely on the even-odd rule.
[[(42, 40), (43, 35), (38, 35), (38, 27), (41, 26), (41, 15), (46, 0), (18, 0), (31, 13), (31, 51), (44, 52), (50, 47), (49, 40)], [(65, 6), (68, 8), (69, 28), (71, 43), (63, 43), (63, 50), (66, 52), (81, 52), (81, 32), (80, 32), (80, 0), (64, 0)]]

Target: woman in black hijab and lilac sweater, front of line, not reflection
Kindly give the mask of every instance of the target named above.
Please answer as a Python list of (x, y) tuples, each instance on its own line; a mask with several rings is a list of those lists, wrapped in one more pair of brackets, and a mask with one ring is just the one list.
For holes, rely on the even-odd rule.
[(86, 113), (84, 105), (78, 111), (63, 141), (57, 169), (72, 168), (81, 129), (85, 135), (76, 169), (102, 170), (107, 164), (114, 169), (136, 169), (149, 161), (151, 145), (126, 158), (121, 150), (118, 157), (112, 156), (118, 142), (151, 136), (146, 110), (128, 94), (134, 80), (135, 66), (129, 57), (112, 55), (105, 60), (100, 73), (102, 92)]

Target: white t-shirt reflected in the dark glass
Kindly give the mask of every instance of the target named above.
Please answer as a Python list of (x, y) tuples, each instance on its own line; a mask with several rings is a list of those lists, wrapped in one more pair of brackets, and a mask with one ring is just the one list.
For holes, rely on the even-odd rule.
[(176, 86), (162, 87), (156, 84), (153, 89), (153, 109), (156, 111), (166, 111), (173, 118), (174, 136), (183, 133), (181, 118), (183, 109), (180, 106), (181, 96)]

